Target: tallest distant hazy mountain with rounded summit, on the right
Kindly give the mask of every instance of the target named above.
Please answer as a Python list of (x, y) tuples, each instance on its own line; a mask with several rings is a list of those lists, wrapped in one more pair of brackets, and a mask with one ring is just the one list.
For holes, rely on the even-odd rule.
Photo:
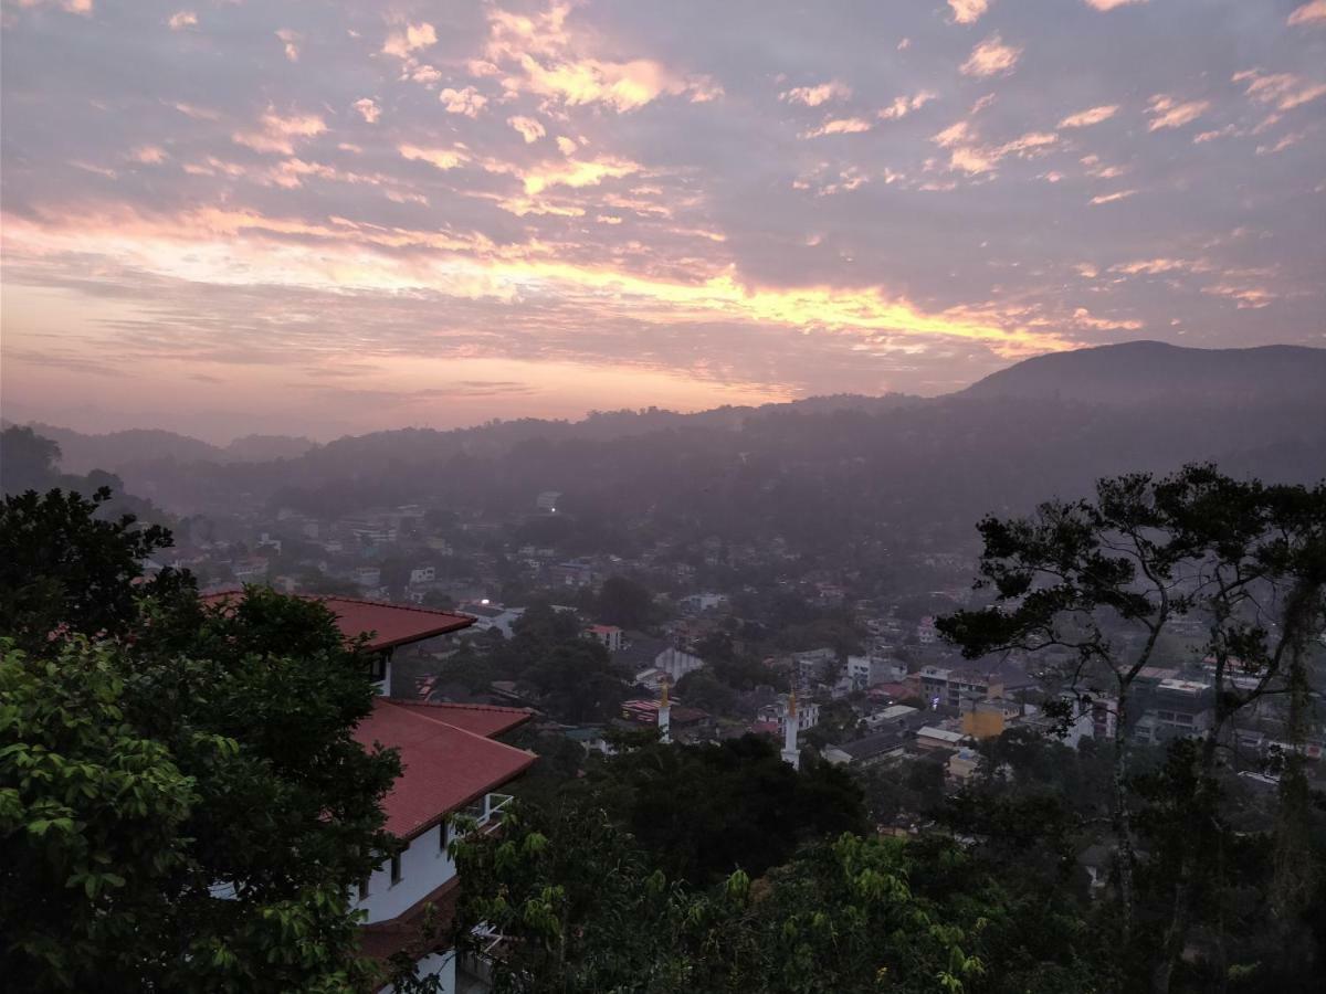
[(1321, 400), (1326, 349), (1183, 349), (1124, 342), (1026, 359), (961, 391), (967, 398), (1058, 398), (1090, 404)]

